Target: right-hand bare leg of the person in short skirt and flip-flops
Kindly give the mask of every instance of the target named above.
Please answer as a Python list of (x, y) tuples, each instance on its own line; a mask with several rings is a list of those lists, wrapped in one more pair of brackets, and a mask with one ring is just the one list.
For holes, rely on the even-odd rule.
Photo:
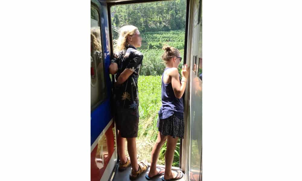
[(167, 150), (165, 153), (164, 179), (172, 179), (172, 178), (175, 178), (177, 175), (176, 172), (172, 172), (172, 163), (173, 163), (174, 151), (176, 148), (177, 141), (178, 141), (178, 137), (173, 138), (172, 136), (168, 135)]

